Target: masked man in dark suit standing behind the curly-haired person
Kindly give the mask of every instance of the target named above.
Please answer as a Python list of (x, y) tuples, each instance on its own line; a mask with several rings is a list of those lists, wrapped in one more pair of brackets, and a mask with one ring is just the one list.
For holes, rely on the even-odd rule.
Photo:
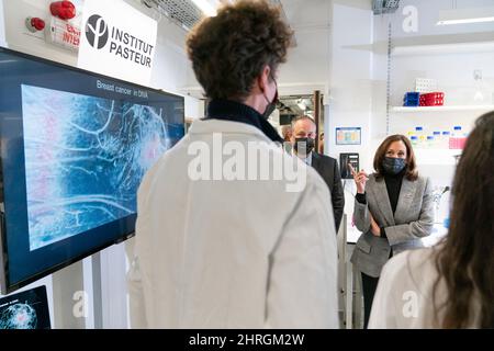
[(341, 176), (336, 159), (314, 151), (315, 137), (316, 125), (310, 116), (300, 116), (292, 122), (293, 154), (312, 166), (329, 188), (335, 226), (338, 231), (345, 207)]

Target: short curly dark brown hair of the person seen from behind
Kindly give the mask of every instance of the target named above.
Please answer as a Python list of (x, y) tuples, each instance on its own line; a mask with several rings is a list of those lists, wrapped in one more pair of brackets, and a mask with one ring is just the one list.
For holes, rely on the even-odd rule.
[(195, 25), (187, 50), (209, 99), (243, 101), (266, 65), (274, 72), (287, 60), (292, 38), (278, 7), (240, 0)]

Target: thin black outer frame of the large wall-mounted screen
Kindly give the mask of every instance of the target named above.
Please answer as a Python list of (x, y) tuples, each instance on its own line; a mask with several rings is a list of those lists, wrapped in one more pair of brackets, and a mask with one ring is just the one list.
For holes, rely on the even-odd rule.
[[(151, 91), (151, 92), (155, 92), (155, 93), (158, 93), (158, 94), (161, 94), (161, 95), (179, 98), (183, 102), (183, 113), (182, 113), (181, 124), (183, 125), (183, 131), (186, 132), (186, 129), (184, 129), (186, 128), (186, 111), (184, 111), (186, 110), (184, 109), (186, 107), (186, 102), (184, 102), (184, 97), (182, 97), (182, 95), (173, 94), (173, 93), (166, 92), (166, 91), (159, 90), (159, 89), (154, 89), (154, 88), (141, 86), (141, 84), (137, 84), (137, 83), (134, 83), (134, 82), (131, 82), (131, 81), (126, 81), (126, 80), (123, 80), (123, 79), (119, 79), (119, 78), (113, 78), (113, 77), (110, 77), (110, 76), (96, 73), (96, 72), (92, 72), (92, 71), (89, 71), (89, 70), (85, 70), (85, 69), (81, 69), (81, 68), (77, 68), (77, 67), (72, 67), (72, 66), (69, 66), (69, 65), (60, 64), (60, 63), (53, 61), (53, 60), (45, 59), (45, 58), (41, 58), (41, 57), (37, 57), (37, 56), (20, 53), (20, 52), (16, 52), (16, 50), (13, 50), (13, 49), (9, 49), (9, 48), (4, 48), (4, 47), (1, 47), (1, 46), (0, 46), (0, 53), (7, 53), (7, 54), (12, 55), (12, 56), (18, 56), (18, 57), (21, 57), (21, 58), (24, 58), (24, 59), (31, 59), (31, 60), (34, 60), (34, 61), (37, 61), (37, 63), (52, 65), (52, 66), (55, 66), (55, 67), (58, 67), (58, 68), (61, 68), (61, 69), (68, 69), (68, 70), (71, 70), (71, 71), (83, 73), (83, 75), (88, 75), (88, 76), (91, 76), (91, 77), (94, 77), (94, 78), (112, 80), (112, 81), (114, 81), (116, 83), (123, 83), (123, 84), (133, 86), (135, 88), (147, 90), (147, 91)], [(3, 162), (1, 162), (1, 159), (0, 159), (0, 167), (3, 167), (2, 163)], [(3, 169), (2, 169), (2, 177), (3, 177)], [(1, 181), (3, 183), (3, 179), (1, 179)], [(103, 245), (100, 245), (100, 246), (96, 247), (93, 250), (89, 250), (86, 253), (78, 254), (78, 256), (76, 256), (76, 257), (74, 257), (74, 258), (71, 258), (69, 260), (66, 260), (64, 262), (60, 262), (59, 264), (56, 264), (56, 265), (54, 265), (52, 268), (42, 270), (42, 271), (37, 272), (36, 274), (33, 274), (32, 276), (27, 278), (27, 279), (24, 279), (24, 280), (22, 280), (20, 282), (11, 284), (11, 282), (9, 281), (9, 273), (8, 273), (9, 272), (9, 252), (8, 252), (8, 246), (7, 246), (5, 218), (4, 218), (3, 211), (4, 211), (4, 208), (1, 208), (1, 211), (0, 211), (0, 260), (1, 260), (0, 290), (1, 290), (1, 294), (3, 294), (3, 295), (10, 294), (10, 293), (12, 293), (12, 292), (14, 292), (14, 291), (25, 286), (25, 285), (29, 285), (29, 284), (31, 284), (31, 283), (33, 283), (33, 282), (35, 282), (35, 281), (37, 281), (37, 280), (40, 280), (40, 279), (42, 279), (44, 276), (46, 276), (46, 275), (49, 275), (49, 274), (52, 274), (52, 273), (54, 273), (56, 271), (59, 271), (63, 268), (66, 268), (66, 267), (68, 267), (70, 264), (76, 263), (76, 262), (78, 262), (78, 261), (80, 261), (80, 260), (82, 260), (82, 259), (85, 259), (87, 257), (90, 257), (90, 256), (92, 256), (92, 254), (94, 254), (94, 253), (97, 253), (97, 252), (99, 252), (101, 250), (104, 250), (105, 248), (111, 247), (112, 245), (116, 245), (116, 244), (123, 242), (123, 241), (132, 238), (135, 235), (134, 231), (126, 233), (126, 234), (122, 235), (120, 238), (117, 238), (115, 240), (110, 240), (110, 241), (108, 241), (108, 242), (105, 242)]]

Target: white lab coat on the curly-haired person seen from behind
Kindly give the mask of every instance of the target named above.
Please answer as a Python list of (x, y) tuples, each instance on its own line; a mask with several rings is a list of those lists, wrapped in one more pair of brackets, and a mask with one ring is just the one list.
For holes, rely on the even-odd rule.
[(287, 192), (287, 181), (192, 181), (191, 143), (213, 147), (220, 132), (224, 141), (273, 145), (247, 124), (195, 121), (145, 176), (128, 272), (132, 327), (338, 328), (327, 185), (281, 147), (273, 159), (306, 170), (301, 192)]

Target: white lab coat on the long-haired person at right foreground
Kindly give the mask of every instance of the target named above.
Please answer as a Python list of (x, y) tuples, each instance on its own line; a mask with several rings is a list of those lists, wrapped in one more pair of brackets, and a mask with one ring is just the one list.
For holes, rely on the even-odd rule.
[[(434, 285), (438, 279), (436, 269), (436, 250), (433, 248), (409, 250), (393, 257), (384, 265), (375, 291), (369, 329), (433, 329), (440, 328), (444, 319), (442, 306), (448, 299), (444, 280), (433, 301)], [(472, 324), (479, 326), (478, 301), (472, 304)]]

